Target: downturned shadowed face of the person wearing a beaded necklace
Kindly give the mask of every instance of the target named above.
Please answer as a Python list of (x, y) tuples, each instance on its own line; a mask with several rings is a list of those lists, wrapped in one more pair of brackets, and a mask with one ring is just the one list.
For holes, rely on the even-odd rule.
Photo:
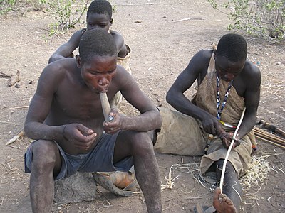
[(229, 82), (234, 79), (242, 69), (244, 68), (245, 60), (232, 62), (224, 56), (216, 56), (216, 70), (219, 73), (219, 77)]

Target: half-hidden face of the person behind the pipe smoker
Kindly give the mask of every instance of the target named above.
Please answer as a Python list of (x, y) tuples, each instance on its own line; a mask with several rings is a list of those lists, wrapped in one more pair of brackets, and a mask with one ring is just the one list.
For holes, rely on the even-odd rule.
[(110, 18), (107, 14), (89, 13), (87, 16), (87, 30), (104, 28), (109, 31)]

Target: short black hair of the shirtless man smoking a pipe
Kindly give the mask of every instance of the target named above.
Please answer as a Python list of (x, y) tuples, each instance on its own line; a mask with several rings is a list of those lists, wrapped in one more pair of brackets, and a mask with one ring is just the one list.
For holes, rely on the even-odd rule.
[(81, 36), (79, 55), (83, 62), (90, 61), (94, 55), (117, 55), (115, 40), (108, 31), (105, 31), (105, 29), (86, 31), (86, 33)]

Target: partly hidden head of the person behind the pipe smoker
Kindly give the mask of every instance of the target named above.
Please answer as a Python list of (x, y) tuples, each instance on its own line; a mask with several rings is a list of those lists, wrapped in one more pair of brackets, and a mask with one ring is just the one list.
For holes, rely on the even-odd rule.
[(105, 28), (109, 30), (113, 23), (112, 6), (109, 1), (95, 0), (92, 1), (87, 11), (87, 30), (93, 28)]

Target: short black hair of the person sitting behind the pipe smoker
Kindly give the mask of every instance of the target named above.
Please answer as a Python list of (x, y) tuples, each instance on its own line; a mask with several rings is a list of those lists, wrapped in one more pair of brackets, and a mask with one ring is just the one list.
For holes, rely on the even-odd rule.
[(106, 14), (110, 19), (112, 18), (112, 5), (106, 0), (92, 1), (88, 7), (87, 16), (89, 13)]

